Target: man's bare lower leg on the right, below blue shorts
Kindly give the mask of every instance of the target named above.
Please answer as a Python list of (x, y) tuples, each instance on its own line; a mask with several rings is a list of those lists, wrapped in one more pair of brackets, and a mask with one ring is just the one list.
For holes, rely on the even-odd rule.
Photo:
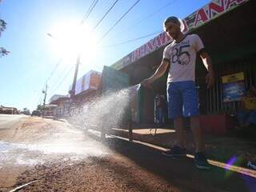
[(200, 116), (192, 116), (190, 117), (190, 126), (194, 135), (194, 143), (195, 143), (195, 152), (202, 152), (204, 150), (203, 142), (202, 142), (202, 129), (200, 126)]

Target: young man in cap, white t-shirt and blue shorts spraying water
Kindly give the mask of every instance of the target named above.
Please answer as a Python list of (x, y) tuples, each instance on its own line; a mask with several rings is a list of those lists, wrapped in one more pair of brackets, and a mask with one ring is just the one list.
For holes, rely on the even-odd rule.
[(163, 23), (166, 33), (174, 39), (163, 51), (162, 63), (156, 72), (146, 78), (142, 85), (149, 87), (165, 74), (170, 65), (167, 78), (167, 101), (169, 118), (174, 120), (174, 128), (178, 134), (178, 143), (165, 153), (169, 157), (186, 156), (185, 138), (183, 135), (183, 117), (190, 117), (190, 126), (194, 134), (195, 165), (199, 169), (209, 169), (206, 156), (202, 153), (202, 133), (199, 121), (198, 95), (194, 84), (194, 70), (197, 54), (208, 74), (206, 85), (210, 88), (214, 84), (214, 70), (210, 56), (206, 53), (202, 40), (197, 34), (182, 34), (181, 23), (178, 18), (167, 18)]

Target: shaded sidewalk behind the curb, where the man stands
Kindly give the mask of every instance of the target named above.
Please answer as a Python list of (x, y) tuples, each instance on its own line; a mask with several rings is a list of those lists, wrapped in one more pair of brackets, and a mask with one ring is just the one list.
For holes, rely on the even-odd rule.
[[(175, 130), (169, 129), (136, 129), (133, 130), (134, 140), (147, 142), (156, 146), (170, 148), (176, 140)], [(114, 135), (128, 138), (128, 130), (114, 129)], [(186, 130), (186, 148), (188, 154), (194, 154), (194, 142), (190, 130)], [(256, 170), (256, 141), (230, 136), (204, 135), (207, 157), (218, 162), (234, 161), (233, 165)]]

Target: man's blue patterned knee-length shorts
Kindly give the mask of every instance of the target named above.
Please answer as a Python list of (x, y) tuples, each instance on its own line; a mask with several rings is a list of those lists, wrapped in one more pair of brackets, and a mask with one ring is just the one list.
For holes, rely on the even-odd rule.
[(169, 118), (199, 115), (198, 92), (193, 81), (167, 84)]

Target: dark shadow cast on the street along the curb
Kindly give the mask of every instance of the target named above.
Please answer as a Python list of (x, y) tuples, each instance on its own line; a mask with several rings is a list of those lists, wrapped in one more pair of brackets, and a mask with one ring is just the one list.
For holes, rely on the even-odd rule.
[[(90, 137), (100, 141), (94, 135), (90, 134)], [(143, 169), (186, 191), (246, 192), (256, 190), (256, 178), (238, 174), (231, 170), (225, 170), (217, 166), (212, 166), (210, 170), (198, 170), (194, 166), (193, 159), (166, 158), (161, 154), (162, 151), (160, 150), (119, 138), (106, 138), (102, 143), (111, 150), (130, 158)], [(102, 163), (100, 158), (93, 159), (95, 163), (99, 163), (101, 166), (104, 165), (108, 169), (116, 171), (117, 174), (118, 170), (122, 169), (122, 165), (110, 165), (108, 162)]]

